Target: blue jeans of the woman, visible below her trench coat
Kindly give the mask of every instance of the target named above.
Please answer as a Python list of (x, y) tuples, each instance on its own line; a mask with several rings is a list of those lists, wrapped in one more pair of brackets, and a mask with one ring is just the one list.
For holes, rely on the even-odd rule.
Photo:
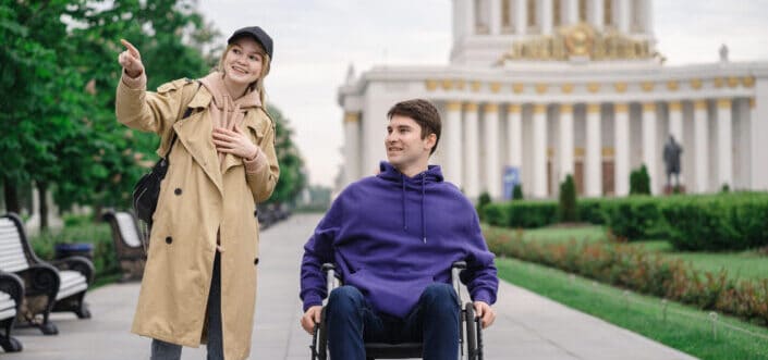
[[(219, 252), (214, 260), (214, 276), (208, 293), (208, 360), (223, 360), (224, 349), (221, 336), (221, 265)], [(153, 339), (150, 360), (181, 359), (181, 345)]]

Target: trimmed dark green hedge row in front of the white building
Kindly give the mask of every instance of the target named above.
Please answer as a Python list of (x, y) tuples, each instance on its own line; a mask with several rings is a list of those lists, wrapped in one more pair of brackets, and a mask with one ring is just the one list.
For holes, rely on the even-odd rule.
[[(501, 227), (554, 224), (556, 201), (512, 201), (483, 208), (483, 219)], [(742, 250), (768, 246), (768, 194), (578, 200), (580, 220), (607, 225), (627, 240), (663, 238), (681, 250)]]

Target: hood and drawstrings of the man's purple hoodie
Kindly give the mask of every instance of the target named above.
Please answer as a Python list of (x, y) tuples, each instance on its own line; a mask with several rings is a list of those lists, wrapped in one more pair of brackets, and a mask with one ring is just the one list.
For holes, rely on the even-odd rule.
[(427, 171), (420, 172), (413, 177), (409, 177), (397, 170), (389, 162), (382, 161), (379, 163), (379, 174), (377, 177), (397, 184), (400, 186), (401, 190), (401, 207), (403, 213), (403, 231), (409, 229), (409, 213), (407, 207), (407, 195), (410, 191), (416, 190), (416, 194), (420, 195), (420, 206), (422, 206), (422, 241), (427, 244), (427, 212), (425, 209), (425, 202), (427, 201), (427, 186), (435, 183), (442, 183), (442, 171), (439, 165), (428, 165)]

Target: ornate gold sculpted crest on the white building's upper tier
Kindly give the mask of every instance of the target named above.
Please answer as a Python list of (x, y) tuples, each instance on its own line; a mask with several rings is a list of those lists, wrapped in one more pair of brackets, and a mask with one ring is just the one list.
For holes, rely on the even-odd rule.
[(658, 58), (666, 60), (645, 39), (633, 39), (614, 28), (598, 30), (582, 22), (561, 26), (552, 35), (514, 41), (497, 64), (507, 60), (565, 61), (585, 58), (589, 60), (642, 60)]

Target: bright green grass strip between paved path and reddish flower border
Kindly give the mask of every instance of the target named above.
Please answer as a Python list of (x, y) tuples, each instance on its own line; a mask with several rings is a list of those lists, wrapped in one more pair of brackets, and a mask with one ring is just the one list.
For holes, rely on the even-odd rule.
[[(513, 259), (498, 259), (499, 276), (576, 310), (680, 349), (702, 359), (768, 359), (768, 330), (720, 315), (717, 335), (707, 313), (669, 303), (667, 319), (654, 297), (631, 294), (609, 286), (594, 286), (590, 280), (571, 278), (564, 272)], [(758, 334), (730, 330), (730, 324)]]

